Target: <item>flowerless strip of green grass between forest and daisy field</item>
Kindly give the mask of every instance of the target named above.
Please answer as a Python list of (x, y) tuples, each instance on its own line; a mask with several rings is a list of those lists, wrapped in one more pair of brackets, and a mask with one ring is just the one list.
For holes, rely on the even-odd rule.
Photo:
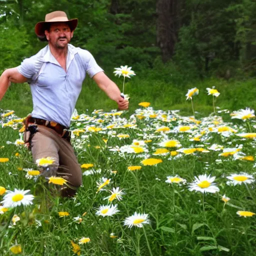
[[(121, 88), (122, 79), (110, 77)], [(206, 87), (215, 86), (219, 92), (216, 98), (216, 106), (236, 110), (246, 106), (256, 108), (254, 95), (256, 94), (256, 78), (246, 80), (220, 80), (205, 79), (203, 81), (186, 82), (186, 85), (176, 84), (173, 81), (143, 76), (135, 76), (127, 80), (124, 92), (130, 95), (129, 112), (132, 113), (141, 101), (149, 101), (154, 109), (179, 109), (182, 114), (191, 112), (190, 100), (185, 100), (185, 94), (189, 88), (197, 87), (199, 94), (194, 97), (195, 111), (201, 114), (212, 112), (212, 97), (207, 95)], [(90, 78), (86, 78), (82, 91), (76, 103), (79, 112), (91, 112), (94, 109), (108, 111), (116, 108), (116, 103), (110, 100), (104, 92)], [(11, 84), (4, 98), (0, 101), (0, 108), (13, 109), (17, 115), (25, 116), (32, 111), (32, 99), (28, 84)]]

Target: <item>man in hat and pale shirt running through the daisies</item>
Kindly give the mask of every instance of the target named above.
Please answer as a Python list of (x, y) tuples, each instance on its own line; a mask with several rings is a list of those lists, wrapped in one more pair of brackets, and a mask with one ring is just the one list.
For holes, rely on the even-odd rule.
[(63, 11), (45, 15), (35, 25), (35, 33), (48, 45), (26, 58), (21, 65), (6, 69), (0, 76), (0, 100), (10, 82), (28, 82), (33, 111), (26, 120), (25, 142), (30, 143), (34, 161), (52, 157), (53, 163), (41, 169), (44, 176), (58, 175), (67, 180), (63, 196), (72, 196), (81, 185), (81, 169), (70, 144), (68, 127), (82, 82), (87, 73), (121, 110), (128, 101), (117, 85), (84, 49), (69, 44), (78, 20), (68, 20)]

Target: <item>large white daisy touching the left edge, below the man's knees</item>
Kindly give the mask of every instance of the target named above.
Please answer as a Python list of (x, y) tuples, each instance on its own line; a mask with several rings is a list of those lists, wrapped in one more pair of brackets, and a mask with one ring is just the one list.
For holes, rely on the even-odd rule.
[(34, 196), (32, 194), (26, 194), (30, 190), (19, 190), (14, 188), (14, 191), (8, 190), (7, 193), (3, 196), (1, 203), (3, 207), (16, 207), (19, 205), (29, 205), (32, 204)]

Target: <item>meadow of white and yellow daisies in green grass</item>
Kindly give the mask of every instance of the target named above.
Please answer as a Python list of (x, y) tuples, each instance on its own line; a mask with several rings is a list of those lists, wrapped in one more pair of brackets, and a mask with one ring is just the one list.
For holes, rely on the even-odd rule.
[(149, 102), (75, 111), (83, 184), (69, 199), (0, 110), (0, 255), (256, 255), (254, 111), (215, 109), (207, 91), (216, 111), (201, 118)]

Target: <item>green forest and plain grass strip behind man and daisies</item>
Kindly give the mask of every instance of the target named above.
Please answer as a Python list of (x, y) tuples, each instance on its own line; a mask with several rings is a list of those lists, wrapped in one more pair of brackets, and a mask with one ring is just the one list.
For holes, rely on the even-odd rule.
[[(184, 95), (195, 86), (195, 110), (202, 113), (212, 111), (205, 90), (211, 86), (222, 108), (256, 108), (255, 0), (0, 0), (0, 73), (45, 45), (34, 25), (54, 10), (78, 18), (71, 43), (89, 50), (120, 88), (114, 67), (132, 66), (136, 76), (124, 91), (130, 111), (149, 101), (191, 114)], [(91, 79), (84, 83), (78, 111), (116, 107)], [(30, 112), (28, 84), (12, 84), (0, 108)]]

